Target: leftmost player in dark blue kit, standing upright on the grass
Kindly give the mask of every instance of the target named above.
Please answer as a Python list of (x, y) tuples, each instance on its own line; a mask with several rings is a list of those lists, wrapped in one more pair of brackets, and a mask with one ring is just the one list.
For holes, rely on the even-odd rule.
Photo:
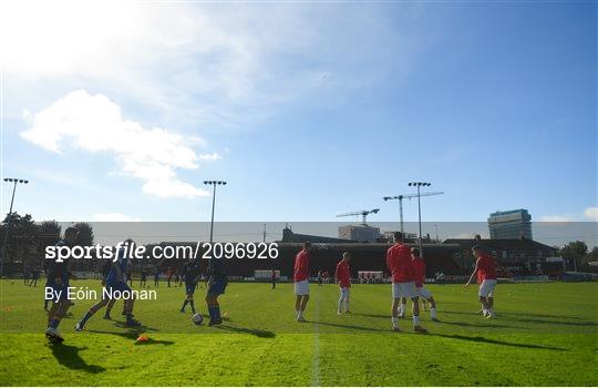
[[(56, 246), (73, 247), (79, 239), (79, 229), (69, 226), (64, 231), (64, 238), (56, 243)], [(69, 258), (48, 261), (48, 283), (45, 285), (45, 295), (51, 292), (52, 297), (45, 297), (52, 302), (52, 307), (48, 313), (48, 328), (45, 337), (54, 343), (62, 343), (64, 338), (60, 335), (58, 327), (62, 318), (66, 315), (71, 300), (69, 300)]]

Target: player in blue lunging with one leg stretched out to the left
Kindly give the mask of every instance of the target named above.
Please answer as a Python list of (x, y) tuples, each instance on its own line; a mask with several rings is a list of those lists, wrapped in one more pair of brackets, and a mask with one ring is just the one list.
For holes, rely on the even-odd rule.
[(109, 295), (112, 295), (114, 292), (126, 293), (131, 296), (124, 300), (125, 304), (125, 315), (126, 321), (125, 326), (128, 327), (138, 327), (141, 324), (133, 318), (133, 304), (135, 302), (133, 295), (131, 294), (131, 287), (126, 284), (126, 270), (128, 269), (128, 262), (131, 257), (131, 252), (134, 248), (135, 243), (132, 239), (126, 239), (123, 244), (123, 247), (117, 252), (116, 261), (112, 263), (112, 267), (106, 276), (105, 293), (103, 294), (102, 300), (90, 307), (87, 313), (81, 318), (75, 325), (75, 330), (81, 331), (85, 327), (87, 320), (102, 307), (104, 307), (109, 302), (111, 302)]

